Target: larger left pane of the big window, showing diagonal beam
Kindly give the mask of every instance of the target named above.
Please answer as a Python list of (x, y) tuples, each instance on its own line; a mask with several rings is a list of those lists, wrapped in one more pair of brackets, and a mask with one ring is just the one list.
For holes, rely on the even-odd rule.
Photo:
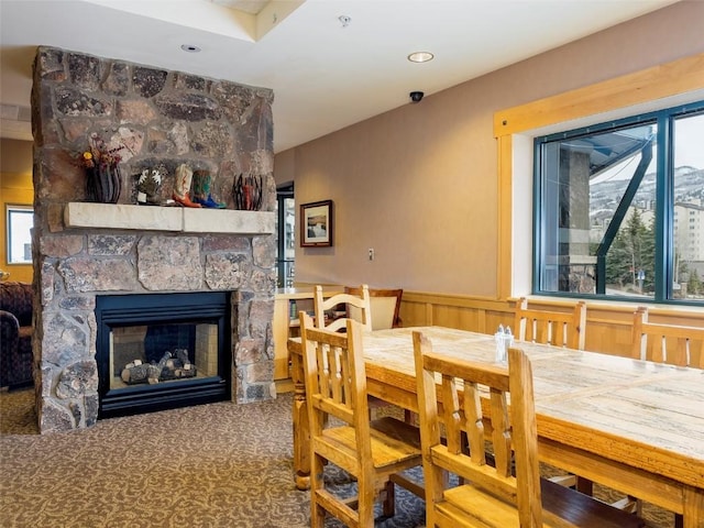
[(543, 290), (652, 295), (654, 131), (651, 123), (544, 145)]

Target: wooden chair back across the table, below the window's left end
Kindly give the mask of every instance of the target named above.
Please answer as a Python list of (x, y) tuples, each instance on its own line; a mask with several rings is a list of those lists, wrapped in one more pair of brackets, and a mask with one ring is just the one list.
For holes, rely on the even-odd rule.
[(516, 302), (515, 337), (519, 341), (584, 350), (586, 304), (580, 300), (571, 311), (536, 310), (528, 299)]

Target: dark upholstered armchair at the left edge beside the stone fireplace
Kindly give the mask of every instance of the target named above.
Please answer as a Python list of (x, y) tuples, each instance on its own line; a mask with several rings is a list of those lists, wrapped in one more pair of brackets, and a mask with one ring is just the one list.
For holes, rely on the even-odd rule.
[(0, 387), (33, 381), (32, 301), (31, 284), (0, 282)]

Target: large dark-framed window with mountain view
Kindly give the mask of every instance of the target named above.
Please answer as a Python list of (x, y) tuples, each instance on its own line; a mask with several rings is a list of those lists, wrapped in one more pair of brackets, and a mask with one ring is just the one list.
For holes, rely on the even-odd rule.
[(704, 302), (704, 101), (536, 139), (540, 294)]

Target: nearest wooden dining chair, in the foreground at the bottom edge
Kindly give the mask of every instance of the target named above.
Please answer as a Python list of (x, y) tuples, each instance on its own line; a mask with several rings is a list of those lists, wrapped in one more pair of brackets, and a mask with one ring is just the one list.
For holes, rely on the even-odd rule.
[(418, 331), (413, 339), (428, 528), (645, 526), (540, 477), (532, 372), (521, 350), (509, 348), (505, 367), (433, 353)]

